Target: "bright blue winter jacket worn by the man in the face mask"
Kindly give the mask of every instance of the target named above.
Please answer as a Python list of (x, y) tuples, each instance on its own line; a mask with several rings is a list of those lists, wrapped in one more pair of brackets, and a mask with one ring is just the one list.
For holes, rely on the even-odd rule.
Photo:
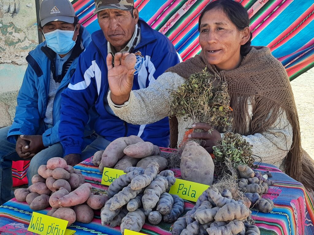
[[(25, 71), (22, 86), (17, 96), (17, 106), (14, 117), (14, 122), (8, 132), (8, 141), (15, 144), (16, 135), (42, 135), (44, 146), (48, 147), (60, 141), (58, 136), (58, 126), (60, 123), (60, 109), (61, 109), (61, 92), (68, 86), (70, 78), (73, 75), (78, 56), (84, 50), (85, 47), (91, 41), (89, 32), (80, 27), (80, 36), (77, 43), (74, 46), (70, 58), (73, 60), (72, 64), (65, 69), (67, 65), (63, 66), (63, 79), (57, 90), (54, 103), (53, 103), (53, 126), (47, 128), (44, 123), (46, 115), (46, 108), (48, 103), (48, 92), (51, 70), (54, 70), (54, 65), (51, 60), (54, 61), (55, 53), (46, 46), (46, 41), (39, 44), (34, 50), (30, 51), (26, 57), (28, 62), (27, 69)], [(91, 131), (92, 133), (93, 131)], [(91, 134), (89, 133), (89, 134)]]

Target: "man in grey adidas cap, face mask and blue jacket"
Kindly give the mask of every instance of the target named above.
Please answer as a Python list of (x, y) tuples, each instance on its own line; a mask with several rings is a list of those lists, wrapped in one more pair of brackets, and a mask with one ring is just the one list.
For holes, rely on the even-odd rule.
[[(90, 42), (90, 34), (78, 23), (68, 0), (44, 0), (40, 31), (45, 41), (30, 51), (17, 97), (14, 122), (0, 129), (0, 205), (13, 197), (12, 161), (30, 160), (29, 182), (40, 165), (63, 157), (59, 143), (61, 93), (68, 86), (78, 56)], [(93, 131), (85, 132), (86, 145)]]

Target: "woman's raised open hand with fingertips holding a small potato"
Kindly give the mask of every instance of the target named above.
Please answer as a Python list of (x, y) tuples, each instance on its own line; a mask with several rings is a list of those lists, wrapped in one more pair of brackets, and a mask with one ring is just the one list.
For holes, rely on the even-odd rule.
[(108, 83), (111, 91), (111, 100), (117, 105), (128, 101), (133, 87), (136, 57), (132, 53), (116, 53), (114, 65), (112, 55), (107, 55)]

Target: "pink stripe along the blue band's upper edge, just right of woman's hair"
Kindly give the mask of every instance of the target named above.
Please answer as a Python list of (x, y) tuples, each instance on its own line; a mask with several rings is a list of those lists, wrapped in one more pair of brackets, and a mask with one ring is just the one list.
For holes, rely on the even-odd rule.
[[(287, 8), (290, 3), (293, 2), (293, 0), (280, 0), (279, 3), (281, 2), (284, 3), (280, 7), (278, 7), (278, 5), (274, 3), (274, 6), (271, 5), (271, 7), (269, 7), (267, 11), (265, 11), (259, 18), (254, 21), (254, 23), (258, 21), (260, 22), (258, 25), (256, 25), (256, 27), (254, 26), (254, 23), (251, 25), (251, 31), (254, 30), (253, 38), (257, 36), (263, 29), (265, 29), (268, 24), (270, 24), (282, 11), (284, 11), (284, 9)], [(274, 12), (272, 13), (272, 11)], [(272, 15), (270, 15), (271, 13)]]

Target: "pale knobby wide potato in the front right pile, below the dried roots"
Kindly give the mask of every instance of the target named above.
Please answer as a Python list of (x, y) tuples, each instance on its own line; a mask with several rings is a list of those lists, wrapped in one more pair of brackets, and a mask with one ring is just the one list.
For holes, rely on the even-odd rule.
[(251, 211), (242, 203), (230, 202), (221, 207), (215, 215), (216, 221), (244, 220), (251, 214)]

